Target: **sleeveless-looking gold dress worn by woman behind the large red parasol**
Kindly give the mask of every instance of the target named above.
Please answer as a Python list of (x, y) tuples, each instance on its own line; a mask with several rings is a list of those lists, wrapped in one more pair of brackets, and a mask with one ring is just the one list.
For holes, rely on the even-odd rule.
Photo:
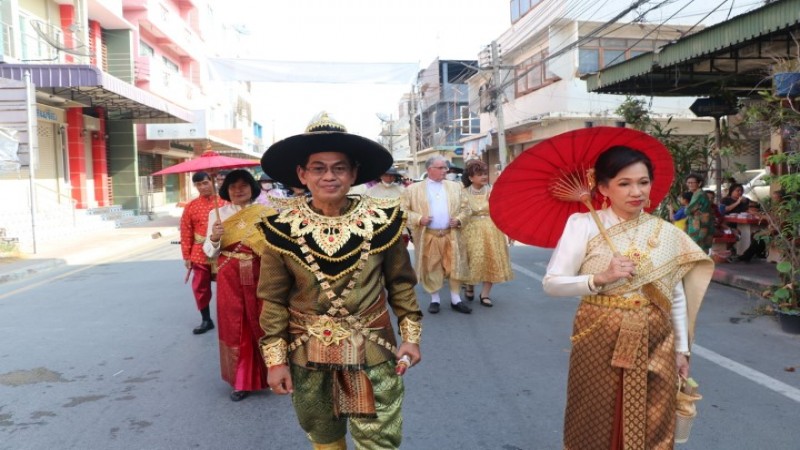
[(508, 240), (489, 217), (490, 192), (489, 185), (477, 192), (471, 187), (464, 188), (468, 216), (462, 237), (469, 261), (469, 275), (464, 280), (468, 284), (503, 283), (514, 279), (508, 256)]

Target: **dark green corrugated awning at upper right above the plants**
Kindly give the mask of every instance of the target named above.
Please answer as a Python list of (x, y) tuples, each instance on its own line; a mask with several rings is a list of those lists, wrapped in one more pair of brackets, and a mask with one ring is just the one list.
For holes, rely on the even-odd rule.
[(775, 58), (796, 58), (800, 0), (782, 0), (586, 75), (589, 92), (705, 96), (769, 88)]

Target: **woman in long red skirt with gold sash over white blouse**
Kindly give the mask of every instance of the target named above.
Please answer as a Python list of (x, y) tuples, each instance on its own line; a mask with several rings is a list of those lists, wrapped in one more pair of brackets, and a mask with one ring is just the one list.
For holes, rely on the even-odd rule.
[(258, 323), (262, 302), (256, 297), (263, 236), (261, 219), (275, 211), (255, 203), (261, 188), (250, 172), (234, 170), (225, 177), (220, 197), (230, 202), (211, 211), (203, 250), (218, 257), (217, 325), (222, 379), (233, 387), (238, 402), (251, 391), (267, 388), (267, 370), (258, 350), (263, 331)]

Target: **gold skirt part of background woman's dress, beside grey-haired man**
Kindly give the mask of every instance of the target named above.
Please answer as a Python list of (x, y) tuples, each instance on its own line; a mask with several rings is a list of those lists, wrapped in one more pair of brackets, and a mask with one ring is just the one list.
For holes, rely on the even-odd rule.
[(489, 216), (472, 216), (462, 237), (467, 247), (467, 283), (502, 283), (514, 278), (506, 237)]

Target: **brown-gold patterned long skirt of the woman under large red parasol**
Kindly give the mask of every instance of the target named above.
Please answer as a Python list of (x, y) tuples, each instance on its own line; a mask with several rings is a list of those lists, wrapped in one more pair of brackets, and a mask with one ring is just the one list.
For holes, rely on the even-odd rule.
[[(644, 321), (631, 367), (611, 365), (623, 321)], [(672, 322), (654, 305), (581, 302), (567, 381), (564, 448), (672, 449), (677, 386)]]

